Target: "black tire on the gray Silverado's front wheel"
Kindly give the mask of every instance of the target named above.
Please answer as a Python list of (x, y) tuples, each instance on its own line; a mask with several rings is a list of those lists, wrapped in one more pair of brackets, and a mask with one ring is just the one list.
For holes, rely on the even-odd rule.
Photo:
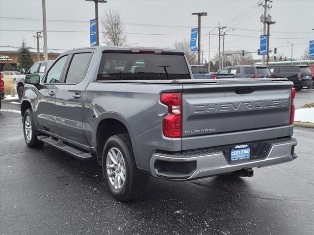
[[(27, 128), (25, 128), (25, 126), (29, 127), (28, 130), (30, 133), (28, 136), (26, 134)], [(23, 116), (23, 131), (24, 131), (24, 139), (28, 147), (35, 148), (35, 147), (40, 147), (44, 144), (43, 142), (37, 140), (37, 130), (35, 127), (33, 113), (31, 109), (27, 109)]]

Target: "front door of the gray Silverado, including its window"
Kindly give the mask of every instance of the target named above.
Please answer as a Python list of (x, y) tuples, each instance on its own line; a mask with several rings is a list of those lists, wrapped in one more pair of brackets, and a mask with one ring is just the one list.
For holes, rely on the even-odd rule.
[(56, 134), (55, 126), (55, 94), (59, 81), (63, 76), (63, 71), (68, 59), (68, 55), (59, 58), (44, 75), (42, 83), (38, 87), (38, 103), (34, 109), (36, 115), (36, 126)]

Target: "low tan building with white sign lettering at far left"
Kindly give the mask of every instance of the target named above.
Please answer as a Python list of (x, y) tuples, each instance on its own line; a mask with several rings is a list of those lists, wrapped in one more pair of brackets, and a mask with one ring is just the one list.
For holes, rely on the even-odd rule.
[[(37, 62), (37, 48), (29, 48), (31, 58), (34, 63)], [(55, 60), (59, 54), (65, 52), (66, 50), (60, 49), (48, 49), (48, 60)], [(44, 60), (43, 49), (39, 50), (40, 52), (40, 61)], [(0, 71), (6, 63), (11, 64), (16, 67), (18, 64), (19, 57), (19, 47), (10, 47), (10, 46), (0, 46)]]

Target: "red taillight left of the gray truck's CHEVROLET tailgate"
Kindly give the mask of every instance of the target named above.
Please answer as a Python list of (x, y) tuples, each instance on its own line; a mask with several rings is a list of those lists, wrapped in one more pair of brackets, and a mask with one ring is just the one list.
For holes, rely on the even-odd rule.
[(165, 137), (182, 137), (182, 94), (163, 93), (161, 103), (168, 106), (168, 114), (162, 119), (162, 132)]

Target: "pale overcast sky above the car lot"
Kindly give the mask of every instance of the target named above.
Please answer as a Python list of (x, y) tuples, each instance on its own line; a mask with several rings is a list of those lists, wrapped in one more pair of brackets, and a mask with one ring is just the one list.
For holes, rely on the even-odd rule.
[[(218, 24), (226, 26), (225, 30), (235, 29), (225, 36), (225, 50), (257, 51), (263, 27), (260, 22), (263, 8), (258, 6), (259, 2), (262, 1), (108, 0), (99, 4), (99, 15), (117, 9), (129, 44), (173, 47), (175, 41), (189, 39), (191, 28), (197, 27), (197, 16), (191, 13), (207, 12), (208, 16), (201, 18), (201, 50), (205, 60), (209, 53), (212, 58), (218, 50)], [(287, 43), (290, 42), (294, 44), (293, 58), (300, 58), (309, 41), (314, 40), (314, 0), (273, 0), (270, 4), (268, 14), (276, 24), (271, 25), (269, 48), (277, 47), (277, 54), (290, 58), (291, 45)], [(95, 17), (93, 2), (46, 0), (46, 17), (50, 49), (89, 47), (89, 20)], [(27, 46), (36, 47), (33, 35), (43, 29), (41, 19), (42, 0), (0, 0), (0, 45), (20, 46), (25, 39)], [(42, 44), (41, 39), (41, 47)], [(253, 57), (262, 56), (254, 53)]]

